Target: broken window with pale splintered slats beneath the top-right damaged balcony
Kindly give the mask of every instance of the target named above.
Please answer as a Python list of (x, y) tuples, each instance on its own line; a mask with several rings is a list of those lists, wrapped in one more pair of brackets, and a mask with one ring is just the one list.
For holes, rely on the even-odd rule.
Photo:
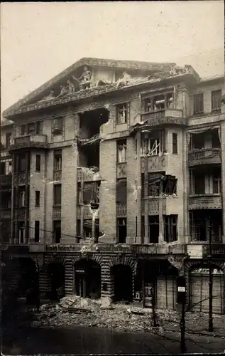
[(141, 155), (155, 156), (163, 152), (163, 131), (141, 133)]

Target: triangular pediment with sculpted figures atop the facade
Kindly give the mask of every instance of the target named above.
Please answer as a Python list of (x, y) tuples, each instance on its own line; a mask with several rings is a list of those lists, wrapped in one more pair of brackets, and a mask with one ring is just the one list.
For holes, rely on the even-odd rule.
[(80, 90), (109, 85), (119, 80), (129, 81), (148, 78), (157, 73), (170, 73), (175, 63), (150, 63), (118, 61), (99, 58), (82, 58), (72, 66), (55, 75), (25, 98), (18, 100), (3, 112), (9, 117), (21, 107), (48, 100), (57, 100)]

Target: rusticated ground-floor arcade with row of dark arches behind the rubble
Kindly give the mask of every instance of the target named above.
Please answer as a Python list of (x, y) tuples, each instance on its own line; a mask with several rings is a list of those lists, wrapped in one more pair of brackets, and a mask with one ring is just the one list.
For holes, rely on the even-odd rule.
[[(182, 259), (182, 258), (181, 258)], [(133, 303), (144, 308), (177, 309), (177, 276), (187, 278), (187, 308), (209, 310), (209, 266), (187, 260), (180, 265), (170, 258), (121, 256), (92, 253), (91, 256), (48, 254), (14, 256), (6, 265), (6, 276), (18, 296), (39, 293), (41, 299), (63, 295), (106, 298), (114, 303)], [(9, 266), (10, 263), (10, 266)], [(8, 275), (7, 275), (8, 273)], [(224, 262), (213, 262), (213, 312), (225, 313)], [(60, 290), (60, 293), (59, 293)]]

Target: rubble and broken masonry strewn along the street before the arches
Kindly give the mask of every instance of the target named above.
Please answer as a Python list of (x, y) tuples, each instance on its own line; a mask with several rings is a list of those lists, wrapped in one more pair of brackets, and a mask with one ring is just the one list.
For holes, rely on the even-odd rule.
[[(180, 313), (173, 310), (157, 310), (157, 333), (165, 330), (180, 332)], [(192, 331), (207, 330), (208, 318), (204, 313), (186, 313), (186, 327)], [(150, 309), (133, 308), (122, 303), (102, 306), (101, 300), (77, 296), (65, 297), (58, 304), (42, 305), (35, 313), (33, 326), (90, 326), (126, 332), (153, 332), (153, 314)], [(225, 334), (225, 315), (214, 315), (215, 328)]]

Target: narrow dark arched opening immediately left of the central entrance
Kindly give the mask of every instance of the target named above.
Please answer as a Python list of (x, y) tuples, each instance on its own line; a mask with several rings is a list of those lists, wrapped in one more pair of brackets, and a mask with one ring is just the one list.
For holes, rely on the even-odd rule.
[[(53, 262), (48, 265), (48, 276), (50, 277), (50, 299), (57, 300), (58, 289), (65, 290), (65, 267), (60, 262)], [(62, 295), (61, 295), (62, 296)]]

